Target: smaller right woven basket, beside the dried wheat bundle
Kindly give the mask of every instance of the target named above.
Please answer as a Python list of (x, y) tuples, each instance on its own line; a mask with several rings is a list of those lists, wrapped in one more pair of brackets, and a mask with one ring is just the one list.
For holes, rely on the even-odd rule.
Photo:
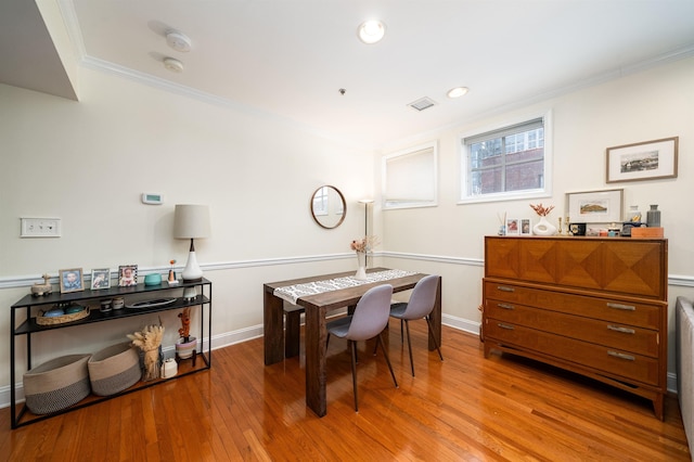
[(129, 342), (95, 352), (87, 363), (94, 395), (108, 396), (134, 385), (142, 377), (140, 355)]

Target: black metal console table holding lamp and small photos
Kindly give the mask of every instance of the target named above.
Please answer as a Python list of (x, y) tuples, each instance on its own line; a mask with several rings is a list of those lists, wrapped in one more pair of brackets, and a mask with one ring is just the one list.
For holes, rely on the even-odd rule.
[[(168, 305), (160, 305), (142, 309), (123, 308), (118, 310), (112, 310), (108, 312), (100, 311), (100, 300), (104, 298), (113, 298), (116, 296), (124, 297), (125, 304), (128, 305), (128, 299), (142, 299), (147, 298), (147, 294), (151, 298), (160, 298), (163, 294), (175, 296), (177, 292), (182, 294), (184, 287), (196, 287), (197, 296), (192, 299), (183, 299), (178, 297), (174, 303)], [(168, 292), (163, 292), (168, 291)], [(209, 338), (211, 332), (211, 296), (213, 296), (213, 283), (206, 279), (195, 282), (181, 282), (178, 285), (169, 286), (168, 282), (162, 282), (158, 285), (147, 286), (144, 284), (138, 284), (130, 287), (111, 287), (101, 291), (86, 290), (82, 292), (72, 292), (67, 294), (53, 293), (51, 295), (34, 297), (27, 295), (12, 305), (11, 309), (11, 322), (10, 322), (10, 419), (12, 428), (28, 425), (34, 422), (42, 421), (54, 415), (63, 414), (65, 412), (73, 411), (75, 409), (83, 408), (86, 406), (95, 405), (98, 402), (115, 398), (117, 396), (132, 393), (142, 388), (146, 388), (153, 385), (164, 383), (166, 381), (175, 380), (183, 375), (193, 374), (207, 370), (211, 367), (211, 347), (210, 342), (207, 342), (207, 350), (204, 348), (205, 336)], [(41, 325), (36, 322), (36, 317), (39, 309), (50, 309), (55, 304), (76, 303), (90, 307), (90, 315), (78, 321), (67, 322), (63, 324)], [(178, 374), (170, 378), (158, 378), (149, 382), (139, 382), (130, 388), (120, 392), (115, 395), (97, 397), (93, 395), (88, 396), (77, 405), (74, 405), (67, 409), (50, 414), (35, 415), (33, 414), (26, 405), (17, 403), (16, 397), (16, 344), (24, 339), (26, 348), (26, 370), (30, 370), (33, 367), (31, 361), (31, 344), (40, 339), (41, 334), (48, 331), (54, 331), (56, 329), (73, 329), (75, 326), (93, 323), (102, 323), (112, 321), (115, 319), (123, 319), (134, 316), (152, 315), (158, 311), (177, 310), (185, 307), (200, 307), (200, 337), (202, 351), (196, 354), (196, 359), (202, 361), (182, 361), (179, 364)], [(206, 317), (207, 312), (207, 317)], [(17, 325), (18, 323), (18, 325)], [(97, 324), (99, 325), (99, 324)], [(101, 324), (103, 325), (103, 324)], [(126, 342), (126, 334), (124, 332), (123, 341)], [(77, 338), (77, 336), (75, 336)], [(95, 352), (95, 351), (92, 351)], [(57, 355), (56, 355), (57, 356)]]

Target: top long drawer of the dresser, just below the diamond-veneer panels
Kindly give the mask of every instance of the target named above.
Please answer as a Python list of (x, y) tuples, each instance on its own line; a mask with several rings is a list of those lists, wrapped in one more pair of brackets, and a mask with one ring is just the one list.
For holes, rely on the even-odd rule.
[(526, 287), (504, 281), (485, 280), (484, 291), (485, 299), (493, 298), (656, 331), (664, 328), (660, 325), (661, 310), (667, 308), (667, 305), (632, 303), (608, 297), (589, 297)]

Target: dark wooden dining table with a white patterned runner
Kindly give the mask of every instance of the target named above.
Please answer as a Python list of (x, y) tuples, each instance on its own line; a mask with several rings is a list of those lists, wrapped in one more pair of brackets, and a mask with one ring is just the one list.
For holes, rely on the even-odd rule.
[[(373, 268), (368, 272), (385, 271), (387, 268)], [(274, 295), (274, 290), (295, 284), (305, 284), (317, 281), (331, 280), (354, 275), (354, 271), (323, 274), (311, 278), (295, 279), (281, 282), (269, 282), (264, 285), (264, 324), (265, 324), (265, 364), (270, 365), (284, 360), (284, 332), (283, 332), (283, 299)], [(372, 287), (381, 284), (393, 285), (393, 292), (402, 292), (413, 288), (417, 281), (427, 274), (415, 273), (403, 278), (390, 279), (382, 282), (357, 285), (354, 287), (323, 292), (314, 295), (299, 297), (298, 306), (306, 310), (306, 406), (318, 416), (327, 413), (325, 402), (325, 313), (327, 310), (355, 306)], [(441, 279), (439, 278), (436, 305), (432, 311), (433, 335), (441, 342)], [(429, 338), (429, 350), (436, 345)]]

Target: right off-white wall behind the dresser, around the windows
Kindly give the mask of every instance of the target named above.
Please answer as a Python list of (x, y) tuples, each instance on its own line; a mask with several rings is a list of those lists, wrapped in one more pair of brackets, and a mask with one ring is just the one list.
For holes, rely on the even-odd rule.
[[(471, 93), (470, 95), (472, 95)], [(553, 195), (542, 200), (457, 205), (459, 195), (459, 137), (503, 125), (516, 116), (552, 111)], [(575, 91), (517, 111), (480, 118), (470, 124), (394, 144), (384, 154), (428, 140), (439, 142), (439, 205), (434, 208), (382, 213), (384, 242), (398, 258), (429, 258), (428, 271), (442, 274), (445, 312), (468, 326), (479, 321), (484, 267), (484, 235), (499, 228), (498, 214), (509, 217), (537, 216), (529, 204), (555, 205), (550, 218), (566, 217), (565, 193), (624, 189), (625, 206), (637, 204), (644, 213), (650, 204), (661, 209), (669, 247), (669, 371), (674, 371), (674, 303), (678, 295), (694, 297), (694, 59), (626, 76)], [(605, 183), (605, 150), (641, 141), (679, 137), (679, 176), (676, 179)], [(381, 177), (376, 176), (376, 180)], [(554, 221), (556, 223), (556, 221)], [(436, 260), (440, 260), (436, 261)], [(420, 261), (409, 266), (420, 267)], [(478, 265), (478, 266), (475, 266)]]

